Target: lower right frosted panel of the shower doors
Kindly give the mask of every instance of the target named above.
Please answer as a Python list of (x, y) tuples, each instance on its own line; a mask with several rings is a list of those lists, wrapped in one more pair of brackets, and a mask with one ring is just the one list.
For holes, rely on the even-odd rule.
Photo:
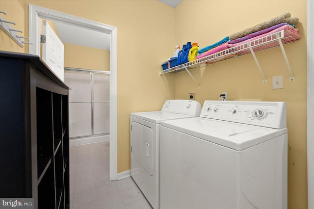
[(110, 103), (93, 103), (93, 134), (109, 133)]

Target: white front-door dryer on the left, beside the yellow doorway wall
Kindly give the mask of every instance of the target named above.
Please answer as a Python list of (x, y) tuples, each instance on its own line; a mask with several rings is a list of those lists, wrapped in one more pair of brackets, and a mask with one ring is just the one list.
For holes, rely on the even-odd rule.
[(196, 101), (167, 100), (161, 111), (131, 113), (131, 177), (154, 209), (160, 208), (160, 122), (199, 116), (201, 109)]

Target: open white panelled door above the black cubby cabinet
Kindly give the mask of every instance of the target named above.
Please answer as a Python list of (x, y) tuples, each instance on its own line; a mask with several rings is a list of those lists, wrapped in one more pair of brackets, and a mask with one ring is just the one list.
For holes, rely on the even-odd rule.
[(64, 45), (53, 31), (52, 27), (43, 21), (43, 35), (46, 36), (46, 42), (43, 43), (42, 59), (51, 68), (55, 75), (62, 81), (64, 80), (63, 56)]

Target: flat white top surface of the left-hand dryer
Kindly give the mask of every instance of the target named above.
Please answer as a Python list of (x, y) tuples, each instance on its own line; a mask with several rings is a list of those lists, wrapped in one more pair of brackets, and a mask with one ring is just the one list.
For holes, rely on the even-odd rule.
[(152, 123), (160, 124), (163, 120), (171, 120), (178, 118), (189, 118), (194, 117), (190, 115), (178, 114), (173, 112), (165, 111), (153, 111), (153, 112), (132, 112), (131, 116), (146, 120)]

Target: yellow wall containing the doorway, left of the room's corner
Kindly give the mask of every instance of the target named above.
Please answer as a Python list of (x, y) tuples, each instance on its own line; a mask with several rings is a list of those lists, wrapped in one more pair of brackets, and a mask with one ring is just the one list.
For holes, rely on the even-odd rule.
[[(10, 11), (12, 19), (21, 19), (27, 32), (29, 3), (117, 27), (117, 172), (129, 170), (130, 113), (159, 110), (165, 100), (174, 98), (174, 76), (158, 74), (161, 62), (174, 51), (174, 8), (157, 0), (60, 2), (0, 0), (0, 10)], [(3, 47), (7, 41), (0, 39), (0, 50), (16, 52), (15, 45)], [(18, 50), (28, 52), (27, 46)]]

